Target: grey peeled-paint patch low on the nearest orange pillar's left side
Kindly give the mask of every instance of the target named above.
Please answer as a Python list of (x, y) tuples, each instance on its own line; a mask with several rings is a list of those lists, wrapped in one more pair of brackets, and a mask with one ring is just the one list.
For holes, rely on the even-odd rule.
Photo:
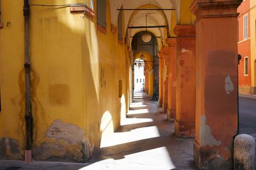
[(202, 146), (219, 146), (221, 141), (217, 141), (214, 136), (211, 134), (211, 128), (206, 124), (205, 115), (201, 116), (201, 125), (200, 125), (200, 143)]

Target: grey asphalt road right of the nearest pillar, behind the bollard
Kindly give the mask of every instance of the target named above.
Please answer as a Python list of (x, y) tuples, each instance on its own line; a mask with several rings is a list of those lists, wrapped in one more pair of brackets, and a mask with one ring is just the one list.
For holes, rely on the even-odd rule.
[(256, 99), (239, 97), (239, 133), (256, 138)]

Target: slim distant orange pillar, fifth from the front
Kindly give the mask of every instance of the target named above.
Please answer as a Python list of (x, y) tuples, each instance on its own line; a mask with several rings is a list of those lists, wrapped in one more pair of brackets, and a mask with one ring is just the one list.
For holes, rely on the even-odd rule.
[(161, 108), (163, 105), (163, 53), (158, 53), (159, 57), (159, 98), (158, 107)]

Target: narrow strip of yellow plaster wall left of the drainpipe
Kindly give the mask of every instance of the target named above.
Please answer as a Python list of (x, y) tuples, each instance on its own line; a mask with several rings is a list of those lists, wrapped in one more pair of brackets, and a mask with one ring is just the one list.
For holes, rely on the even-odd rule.
[[(0, 138), (19, 140), (24, 149), (24, 25), (22, 1), (1, 1), (3, 29), (0, 29)], [(20, 10), (18, 10), (20, 8)], [(20, 17), (19, 17), (20, 16)], [(8, 26), (7, 26), (8, 24)], [(17, 157), (21, 158), (21, 155)]]

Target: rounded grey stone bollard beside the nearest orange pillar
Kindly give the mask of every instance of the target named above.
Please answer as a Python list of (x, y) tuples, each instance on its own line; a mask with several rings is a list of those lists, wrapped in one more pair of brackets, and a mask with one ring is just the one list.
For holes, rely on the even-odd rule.
[(255, 170), (255, 139), (239, 134), (234, 140), (234, 169)]

